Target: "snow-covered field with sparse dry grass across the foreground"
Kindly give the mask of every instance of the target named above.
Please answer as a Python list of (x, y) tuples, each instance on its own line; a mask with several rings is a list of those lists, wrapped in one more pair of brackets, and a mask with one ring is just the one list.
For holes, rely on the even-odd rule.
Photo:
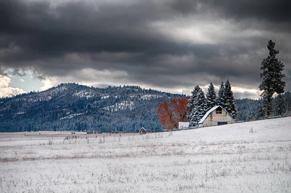
[(0, 133), (1, 193), (291, 192), (291, 117), (143, 136), (43, 134)]

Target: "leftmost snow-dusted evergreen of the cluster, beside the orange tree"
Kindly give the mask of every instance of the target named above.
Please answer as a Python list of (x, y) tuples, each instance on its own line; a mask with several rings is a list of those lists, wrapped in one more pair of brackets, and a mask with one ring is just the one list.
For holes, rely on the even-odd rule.
[(200, 119), (204, 116), (206, 113), (206, 98), (203, 90), (197, 85), (195, 87), (197, 90), (196, 97), (194, 97), (194, 107), (192, 109), (192, 112), (190, 114), (191, 120), (190, 125), (196, 126)]

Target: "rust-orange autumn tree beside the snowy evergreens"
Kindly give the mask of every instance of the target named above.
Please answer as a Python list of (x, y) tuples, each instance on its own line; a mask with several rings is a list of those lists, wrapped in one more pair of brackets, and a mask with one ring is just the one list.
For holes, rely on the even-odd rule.
[(178, 128), (178, 122), (186, 121), (188, 98), (174, 98), (170, 104), (171, 106), (163, 101), (157, 109), (157, 116), (162, 127), (168, 130)]

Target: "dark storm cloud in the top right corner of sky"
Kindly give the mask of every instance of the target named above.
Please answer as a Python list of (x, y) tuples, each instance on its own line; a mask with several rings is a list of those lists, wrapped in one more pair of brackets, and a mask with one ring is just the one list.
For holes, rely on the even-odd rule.
[(291, 22), (290, 0), (174, 0), (169, 5), (181, 14), (211, 10), (237, 20), (256, 18)]

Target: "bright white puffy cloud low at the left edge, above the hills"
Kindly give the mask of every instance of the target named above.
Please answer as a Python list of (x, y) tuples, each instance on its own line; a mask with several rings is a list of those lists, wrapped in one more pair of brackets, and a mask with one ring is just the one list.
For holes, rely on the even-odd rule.
[(26, 93), (24, 90), (20, 88), (9, 87), (10, 82), (11, 82), (10, 77), (0, 75), (0, 97), (14, 96), (14, 95)]

